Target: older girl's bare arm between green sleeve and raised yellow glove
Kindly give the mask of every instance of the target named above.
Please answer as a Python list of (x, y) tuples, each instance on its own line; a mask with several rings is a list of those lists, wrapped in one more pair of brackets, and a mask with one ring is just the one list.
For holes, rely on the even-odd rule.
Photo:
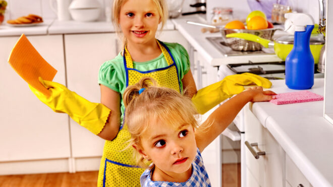
[(100, 85), (101, 103), (111, 110), (103, 130), (98, 136), (105, 140), (116, 138), (120, 127), (120, 93)]

